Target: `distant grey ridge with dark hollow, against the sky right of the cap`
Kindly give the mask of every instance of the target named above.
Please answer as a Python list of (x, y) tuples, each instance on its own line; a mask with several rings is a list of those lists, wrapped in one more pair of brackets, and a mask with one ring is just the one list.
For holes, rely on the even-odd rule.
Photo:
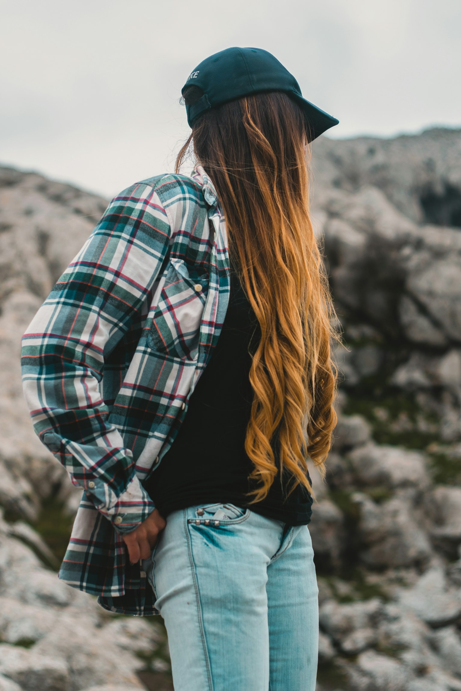
[[(461, 190), (460, 140), (460, 129), (442, 127), (395, 138), (324, 137), (316, 142), (313, 154), (317, 188), (323, 192), (318, 202), (323, 206), (330, 189), (350, 192), (373, 185), (415, 224), (455, 225)], [(451, 196), (445, 199), (446, 184)]]

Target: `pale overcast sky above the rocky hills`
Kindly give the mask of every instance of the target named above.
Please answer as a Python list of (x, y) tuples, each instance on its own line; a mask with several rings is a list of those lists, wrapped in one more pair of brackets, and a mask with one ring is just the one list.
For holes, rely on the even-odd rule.
[(169, 171), (180, 89), (265, 48), (335, 138), (461, 126), (461, 0), (0, 0), (0, 162), (115, 193)]

